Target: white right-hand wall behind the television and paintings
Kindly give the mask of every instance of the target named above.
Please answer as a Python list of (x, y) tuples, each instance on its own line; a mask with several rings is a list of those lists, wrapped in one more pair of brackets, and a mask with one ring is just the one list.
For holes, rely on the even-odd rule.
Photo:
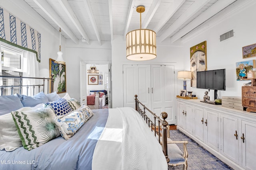
[[(218, 90), (219, 98), (242, 96), (241, 86), (248, 83), (248, 81), (236, 80), (236, 62), (256, 59), (256, 57), (242, 58), (242, 47), (256, 43), (256, 23), (252, 14), (255, 8), (255, 2), (242, 8), (238, 8), (237, 3), (234, 3), (228, 8), (229, 10), (223, 10), (209, 23), (202, 25), (202, 29), (197, 29), (194, 34), (190, 33), (182, 38), (182, 41), (186, 41), (183, 43), (185, 70), (190, 70), (190, 47), (203, 41), (206, 41), (207, 46), (207, 70), (226, 68), (226, 90)], [(235, 9), (234, 13), (230, 13), (232, 9)], [(214, 25), (211, 25), (212, 23)], [(220, 35), (232, 29), (234, 29), (234, 37), (220, 42)], [(203, 99), (206, 91), (190, 87), (190, 81), (187, 81), (187, 90), (193, 91), (192, 94), (196, 94), (200, 99)], [(214, 100), (214, 90), (210, 90), (208, 96), (210, 100)]]

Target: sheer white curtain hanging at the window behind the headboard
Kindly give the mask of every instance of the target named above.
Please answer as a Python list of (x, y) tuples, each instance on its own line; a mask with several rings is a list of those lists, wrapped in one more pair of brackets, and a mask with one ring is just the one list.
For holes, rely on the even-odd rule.
[[(38, 61), (36, 59), (36, 53), (32, 53), (30, 51), (23, 52), (23, 77), (39, 77), (39, 66)], [(24, 78), (22, 81), (23, 85), (34, 85), (39, 84), (38, 79), (30, 79)], [(40, 84), (42, 84), (40, 82)], [(42, 87), (40, 87), (40, 91), (42, 91)], [(29, 86), (28, 95), (33, 96), (38, 93), (38, 86), (35, 86), (33, 90), (33, 86)], [(23, 87), (22, 94), (27, 94), (27, 87)]]

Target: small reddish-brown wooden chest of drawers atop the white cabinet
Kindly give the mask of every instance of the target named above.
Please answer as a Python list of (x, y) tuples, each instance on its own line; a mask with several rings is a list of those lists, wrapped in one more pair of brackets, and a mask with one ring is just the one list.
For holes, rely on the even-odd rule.
[(246, 111), (256, 112), (256, 86), (242, 86), (242, 105)]

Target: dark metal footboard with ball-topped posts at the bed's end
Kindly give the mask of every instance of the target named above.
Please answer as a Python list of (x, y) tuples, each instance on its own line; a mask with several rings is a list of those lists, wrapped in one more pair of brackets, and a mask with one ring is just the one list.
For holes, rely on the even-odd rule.
[[(137, 95), (135, 95), (135, 109), (138, 113), (144, 118), (151, 131), (154, 131), (154, 135), (158, 134), (158, 142), (162, 145), (162, 149), (166, 158), (166, 161), (169, 162), (167, 153), (167, 125), (168, 122), (165, 120), (168, 117), (166, 112), (161, 113), (161, 118), (153, 113), (150, 109), (148, 109), (144, 104), (142, 104), (138, 99)], [(150, 118), (146, 115), (146, 110), (154, 116), (154, 121), (150, 120)], [(157, 124), (157, 125), (156, 125)], [(162, 125), (162, 141), (160, 139), (160, 125)], [(158, 126), (158, 128), (156, 128)]]

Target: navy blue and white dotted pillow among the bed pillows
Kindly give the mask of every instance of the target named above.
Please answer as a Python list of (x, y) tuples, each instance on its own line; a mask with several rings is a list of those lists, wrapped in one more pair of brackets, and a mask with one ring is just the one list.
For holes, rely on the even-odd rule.
[(52, 107), (54, 110), (54, 113), (59, 116), (59, 115), (66, 115), (70, 113), (72, 108), (69, 106), (68, 101), (64, 98), (60, 98), (54, 102), (47, 102), (46, 107)]

